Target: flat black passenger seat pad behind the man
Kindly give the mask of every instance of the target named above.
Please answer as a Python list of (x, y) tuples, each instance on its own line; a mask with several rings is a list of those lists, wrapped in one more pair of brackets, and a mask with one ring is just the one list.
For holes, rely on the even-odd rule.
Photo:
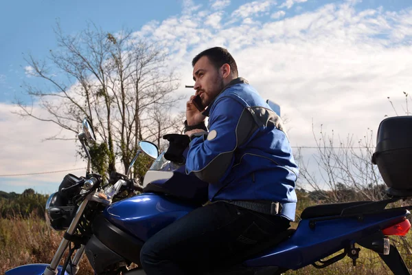
[(305, 208), (301, 214), (301, 219), (312, 219), (318, 217), (328, 217), (337, 216), (345, 208), (350, 208), (353, 206), (360, 206), (365, 203), (371, 203), (372, 201), (352, 201), (352, 202), (342, 202), (342, 203), (327, 203), (321, 204), (319, 206), (309, 206)]

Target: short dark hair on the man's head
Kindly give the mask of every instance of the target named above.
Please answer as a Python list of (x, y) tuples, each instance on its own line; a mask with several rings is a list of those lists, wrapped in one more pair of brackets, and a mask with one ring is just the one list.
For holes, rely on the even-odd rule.
[(227, 52), (225, 48), (211, 47), (210, 49), (204, 50), (197, 56), (194, 56), (192, 60), (192, 67), (194, 67), (196, 62), (198, 62), (202, 56), (207, 56), (211, 64), (213, 64), (216, 69), (222, 67), (223, 64), (229, 64), (233, 76), (238, 77), (238, 65), (236, 65), (235, 59), (231, 56), (231, 54), (229, 54), (229, 52)]

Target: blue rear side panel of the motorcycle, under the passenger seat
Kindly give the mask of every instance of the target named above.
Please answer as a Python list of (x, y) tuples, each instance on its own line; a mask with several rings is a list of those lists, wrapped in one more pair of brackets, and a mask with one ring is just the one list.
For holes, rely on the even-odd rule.
[(365, 215), (362, 221), (353, 217), (318, 221), (315, 228), (310, 228), (310, 219), (302, 219), (289, 239), (247, 260), (244, 265), (275, 265), (298, 270), (338, 252), (351, 241), (364, 239), (382, 228), (399, 223), (408, 215), (408, 210), (399, 209)]

